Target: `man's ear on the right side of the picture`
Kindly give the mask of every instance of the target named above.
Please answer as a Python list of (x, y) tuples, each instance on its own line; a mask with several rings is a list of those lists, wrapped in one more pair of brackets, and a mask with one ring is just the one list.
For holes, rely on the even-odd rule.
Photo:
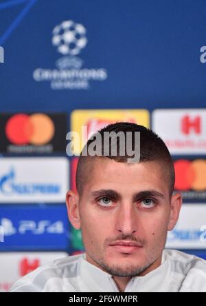
[(172, 231), (179, 218), (179, 212), (182, 205), (181, 194), (174, 194), (171, 198), (170, 220), (168, 223), (168, 231)]

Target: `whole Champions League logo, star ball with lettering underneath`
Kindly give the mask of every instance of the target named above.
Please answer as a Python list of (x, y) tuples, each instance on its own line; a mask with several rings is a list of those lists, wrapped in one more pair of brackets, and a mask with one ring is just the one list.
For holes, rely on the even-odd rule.
[(84, 61), (77, 57), (87, 46), (87, 30), (81, 23), (62, 21), (52, 30), (52, 45), (62, 54), (56, 60), (56, 68), (36, 68), (36, 82), (49, 81), (52, 90), (88, 90), (91, 81), (105, 81), (105, 68), (83, 68)]

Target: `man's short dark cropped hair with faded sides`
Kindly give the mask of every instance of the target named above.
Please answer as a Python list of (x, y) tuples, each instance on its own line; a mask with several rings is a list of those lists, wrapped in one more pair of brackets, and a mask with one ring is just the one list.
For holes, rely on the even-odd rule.
[[(168, 147), (166, 147), (163, 140), (152, 130), (144, 127), (143, 125), (137, 125), (135, 123), (128, 123), (128, 122), (117, 122), (110, 125), (107, 125), (105, 128), (102, 128), (102, 130), (98, 131), (100, 135), (103, 138), (104, 132), (124, 132), (124, 135), (126, 136), (126, 132), (140, 132), (140, 159), (139, 163), (144, 163), (148, 161), (157, 161), (158, 163), (161, 163), (163, 167), (165, 168), (165, 172), (168, 172), (169, 177), (169, 190), (170, 190), (170, 196), (172, 196), (172, 192), (174, 191), (174, 164), (172, 161), (172, 156), (170, 155), (170, 152), (168, 150)], [(126, 137), (125, 137), (126, 138)], [(85, 147), (89, 147), (91, 143), (95, 141), (95, 134), (87, 141), (87, 145), (84, 146), (82, 152), (85, 150)], [(111, 146), (111, 143), (110, 143)], [(132, 146), (134, 148), (134, 137), (132, 141)], [(104, 150), (104, 143), (102, 142), (102, 152)], [(76, 188), (79, 194), (82, 194), (84, 181), (86, 179), (86, 176), (88, 176), (88, 173), (85, 172), (85, 165), (89, 163), (89, 161), (93, 161), (93, 159), (101, 159), (101, 158), (108, 158), (113, 159), (117, 163), (126, 163), (128, 161), (128, 158), (131, 156), (128, 156), (125, 154), (124, 156), (120, 156), (117, 154), (117, 156), (113, 156), (111, 154), (111, 147), (110, 147), (110, 154), (108, 156), (82, 156), (82, 152), (79, 157), (77, 171), (76, 171)], [(119, 142), (117, 141), (117, 153), (119, 152)]]

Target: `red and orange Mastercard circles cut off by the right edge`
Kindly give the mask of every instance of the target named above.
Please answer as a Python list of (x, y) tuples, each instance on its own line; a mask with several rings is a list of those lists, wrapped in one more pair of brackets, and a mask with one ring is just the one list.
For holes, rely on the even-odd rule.
[(175, 185), (176, 190), (196, 190), (206, 189), (206, 161), (205, 159), (196, 159), (187, 161), (181, 159), (174, 162)]

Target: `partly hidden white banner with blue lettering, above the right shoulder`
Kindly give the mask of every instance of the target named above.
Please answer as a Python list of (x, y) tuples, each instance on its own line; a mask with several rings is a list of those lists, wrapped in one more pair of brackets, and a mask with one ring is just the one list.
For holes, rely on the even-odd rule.
[(165, 245), (171, 249), (206, 249), (206, 205), (184, 204)]

